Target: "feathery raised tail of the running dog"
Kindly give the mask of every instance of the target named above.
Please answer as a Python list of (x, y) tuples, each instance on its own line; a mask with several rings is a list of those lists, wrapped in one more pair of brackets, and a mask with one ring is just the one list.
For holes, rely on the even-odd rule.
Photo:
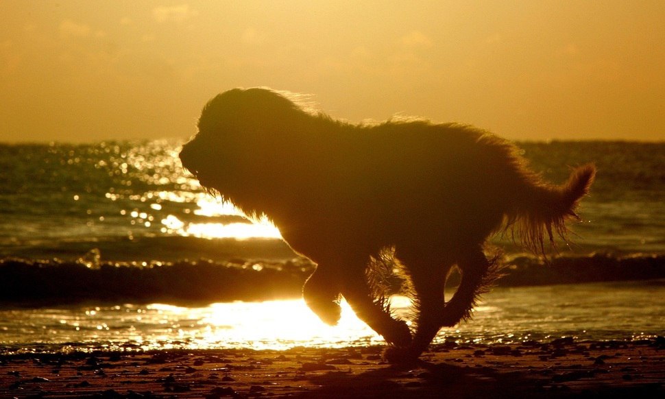
[[(531, 176), (531, 184), (519, 194), (520, 204), (509, 217), (509, 226), (517, 230), (522, 245), (537, 254), (544, 254), (544, 237), (555, 247), (555, 234), (566, 239), (566, 221), (579, 219), (577, 205), (596, 176), (592, 164), (578, 167), (570, 174), (568, 182), (561, 186), (543, 184)], [(513, 230), (513, 231), (514, 231)]]

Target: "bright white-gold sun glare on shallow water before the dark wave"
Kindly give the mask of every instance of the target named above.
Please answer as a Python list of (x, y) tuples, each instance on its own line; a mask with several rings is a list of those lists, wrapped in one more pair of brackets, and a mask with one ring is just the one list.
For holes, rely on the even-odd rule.
[[(336, 326), (324, 324), (303, 300), (215, 303), (202, 308), (150, 304), (132, 325), (130, 340), (144, 350), (234, 348), (284, 350), (380, 344), (383, 339), (341, 302)], [(162, 328), (159, 328), (162, 326)]]

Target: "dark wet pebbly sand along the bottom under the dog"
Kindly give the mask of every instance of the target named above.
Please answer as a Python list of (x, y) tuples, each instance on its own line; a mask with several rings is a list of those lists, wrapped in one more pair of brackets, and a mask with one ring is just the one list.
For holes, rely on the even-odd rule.
[(0, 398), (664, 398), (665, 339), (0, 355)]

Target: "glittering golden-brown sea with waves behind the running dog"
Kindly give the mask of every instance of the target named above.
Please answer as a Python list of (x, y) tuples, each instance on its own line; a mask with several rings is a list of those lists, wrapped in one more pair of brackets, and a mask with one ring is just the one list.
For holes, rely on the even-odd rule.
[[(0, 353), (382, 342), (344, 302), (338, 326), (319, 321), (300, 299), (314, 265), (269, 215), (250, 222), (202, 188), (182, 144), (0, 144)], [(664, 335), (665, 143), (518, 145), (555, 183), (594, 162), (592, 193), (546, 258), (497, 234), (507, 276), (436, 341)]]

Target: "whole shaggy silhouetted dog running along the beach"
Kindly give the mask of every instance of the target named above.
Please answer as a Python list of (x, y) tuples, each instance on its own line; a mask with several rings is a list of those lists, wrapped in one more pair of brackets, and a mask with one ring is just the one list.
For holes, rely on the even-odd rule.
[[(417, 358), (439, 328), (470, 317), (498, 274), (484, 252), (494, 232), (511, 228), (538, 253), (564, 237), (595, 173), (585, 165), (554, 186), (487, 132), (427, 121), (352, 125), (265, 88), (217, 95), (198, 130), (182, 165), (240, 208), (268, 215), (317, 265), (303, 287), (309, 307), (335, 324), (343, 295), (390, 344), (392, 361)], [(461, 282), (446, 302), (453, 267)], [(415, 304), (413, 335), (383, 287), (398, 269)]]

